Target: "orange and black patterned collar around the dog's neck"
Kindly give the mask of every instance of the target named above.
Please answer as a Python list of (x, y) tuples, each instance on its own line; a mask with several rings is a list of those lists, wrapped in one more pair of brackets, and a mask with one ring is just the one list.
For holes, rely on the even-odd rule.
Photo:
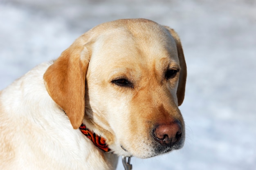
[(86, 128), (86, 126), (84, 124), (81, 124), (79, 129), (81, 130), (83, 135), (85, 135), (86, 137), (88, 137), (92, 141), (92, 143), (95, 146), (97, 146), (98, 148), (100, 148), (104, 152), (110, 152), (110, 148), (108, 148), (108, 145), (106, 144), (106, 139), (105, 138), (96, 135), (94, 132), (92, 132), (88, 128)]

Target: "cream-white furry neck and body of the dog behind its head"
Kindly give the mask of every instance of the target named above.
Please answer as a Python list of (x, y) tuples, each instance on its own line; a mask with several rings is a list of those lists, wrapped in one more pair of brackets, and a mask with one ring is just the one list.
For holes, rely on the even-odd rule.
[(117, 156), (103, 154), (74, 130), (49, 97), (43, 74), (51, 64), (37, 66), (1, 93), (0, 169), (115, 169)]

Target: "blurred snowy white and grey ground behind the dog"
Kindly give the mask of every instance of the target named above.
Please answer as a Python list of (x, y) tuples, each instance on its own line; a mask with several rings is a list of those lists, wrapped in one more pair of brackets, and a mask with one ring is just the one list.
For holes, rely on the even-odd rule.
[(255, 170), (254, 0), (0, 0), (0, 89), (93, 26), (120, 18), (174, 28), (188, 65), (184, 148), (132, 158), (133, 170)]

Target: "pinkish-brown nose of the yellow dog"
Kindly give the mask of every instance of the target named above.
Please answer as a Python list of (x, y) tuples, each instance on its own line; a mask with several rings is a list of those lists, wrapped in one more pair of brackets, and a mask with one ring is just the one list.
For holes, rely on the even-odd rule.
[(180, 121), (173, 121), (169, 124), (159, 124), (153, 131), (155, 141), (162, 146), (173, 146), (180, 141), (182, 126)]

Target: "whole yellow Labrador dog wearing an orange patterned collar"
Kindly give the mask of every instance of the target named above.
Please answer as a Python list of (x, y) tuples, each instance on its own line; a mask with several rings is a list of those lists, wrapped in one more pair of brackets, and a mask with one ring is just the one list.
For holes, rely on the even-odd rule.
[(180, 38), (146, 19), (100, 24), (0, 91), (1, 170), (113, 170), (182, 148)]

